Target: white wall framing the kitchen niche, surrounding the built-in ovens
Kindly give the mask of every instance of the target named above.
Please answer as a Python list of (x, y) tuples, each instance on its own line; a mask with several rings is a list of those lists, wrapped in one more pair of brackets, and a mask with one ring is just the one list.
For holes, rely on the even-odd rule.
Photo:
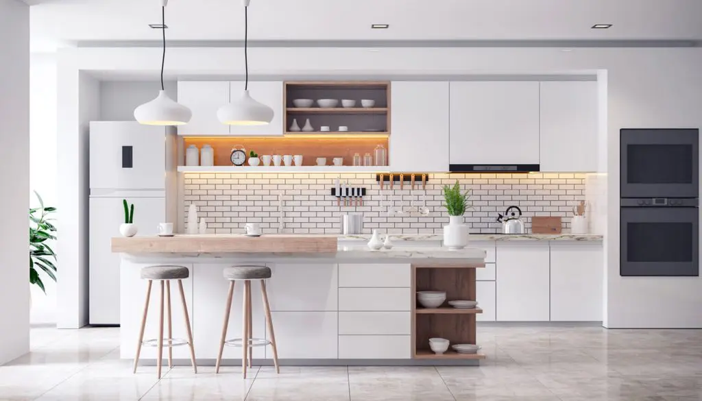
[[(74, 70), (156, 76), (158, 48), (77, 48), (65, 51)], [(231, 77), (241, 55), (228, 48), (172, 48), (168, 77)], [(280, 63), (285, 60), (285, 63)], [(252, 48), (249, 70), (311, 78), (456, 74), (595, 74), (607, 72), (605, 251), (607, 327), (702, 327), (702, 278), (619, 277), (618, 132), (637, 127), (702, 126), (700, 48)], [(71, 72), (74, 74), (74, 72)], [(60, 76), (60, 79), (61, 76)], [(604, 89), (603, 89), (604, 91)], [(70, 93), (69, 93), (70, 95)], [(62, 99), (62, 93), (59, 93)], [(70, 97), (70, 96), (69, 96)], [(602, 133), (604, 135), (604, 132)], [(606, 163), (604, 163), (606, 160)], [(75, 313), (75, 312), (73, 312)]]

